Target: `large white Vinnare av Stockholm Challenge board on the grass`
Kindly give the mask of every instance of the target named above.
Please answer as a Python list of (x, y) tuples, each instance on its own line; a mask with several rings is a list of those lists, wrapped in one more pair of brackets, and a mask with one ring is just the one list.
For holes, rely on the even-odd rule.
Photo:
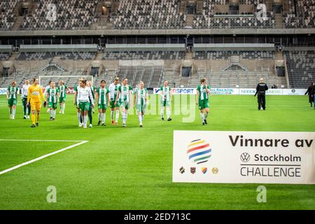
[(173, 182), (315, 184), (314, 132), (174, 131)]

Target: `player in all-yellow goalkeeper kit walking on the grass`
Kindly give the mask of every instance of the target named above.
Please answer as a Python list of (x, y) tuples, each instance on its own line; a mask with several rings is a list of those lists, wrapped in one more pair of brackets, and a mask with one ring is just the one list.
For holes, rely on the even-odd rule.
[[(41, 99), (44, 101), (44, 107), (47, 105), (45, 97), (43, 95), (43, 90), (41, 86), (38, 85), (38, 79), (34, 78), (33, 85), (29, 86), (29, 91), (27, 94), (27, 103), (31, 105), (31, 127), (38, 127), (39, 123), (39, 113), (41, 112)], [(37, 118), (35, 122), (35, 113), (37, 113)]]

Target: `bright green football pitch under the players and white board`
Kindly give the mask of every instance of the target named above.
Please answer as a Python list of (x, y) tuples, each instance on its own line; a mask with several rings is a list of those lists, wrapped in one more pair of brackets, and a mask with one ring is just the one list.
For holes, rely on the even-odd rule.
[[(191, 103), (184, 106), (195, 113), (193, 122), (183, 123), (180, 114), (172, 122), (148, 115), (144, 128), (135, 115), (127, 128), (121, 120), (115, 127), (109, 111), (107, 126), (98, 127), (96, 112), (87, 130), (78, 127), (72, 100), (69, 95), (64, 115), (57, 109), (54, 122), (43, 109), (32, 129), (20, 99), (10, 120), (0, 97), (0, 209), (315, 209), (314, 185), (266, 184), (267, 203), (258, 203), (258, 184), (172, 183), (174, 130), (314, 132), (307, 97), (267, 96), (267, 110), (258, 111), (253, 96), (212, 96), (207, 126)], [(56, 203), (46, 200), (48, 186), (57, 190)]]

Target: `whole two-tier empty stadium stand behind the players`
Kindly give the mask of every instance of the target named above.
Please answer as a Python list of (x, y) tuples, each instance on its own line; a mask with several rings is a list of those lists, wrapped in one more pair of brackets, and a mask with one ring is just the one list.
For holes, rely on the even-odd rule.
[[(266, 20), (257, 17), (260, 3)], [(0, 87), (45, 74), (126, 77), (132, 87), (165, 79), (195, 87), (202, 77), (212, 87), (315, 81), (315, 0), (2, 0), (0, 31)], [(71, 87), (77, 77), (65, 81)]]

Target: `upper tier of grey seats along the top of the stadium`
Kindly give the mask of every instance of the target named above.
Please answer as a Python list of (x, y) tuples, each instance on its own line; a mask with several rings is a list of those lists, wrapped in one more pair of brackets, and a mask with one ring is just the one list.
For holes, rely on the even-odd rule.
[[(181, 0), (120, 0), (118, 8), (102, 21), (101, 0), (3, 0), (0, 2), (0, 30), (13, 29), (20, 16), (20, 3), (25, 1), (32, 7), (18, 25), (20, 30), (91, 29), (99, 22), (111, 25), (106, 29), (184, 29), (188, 25), (188, 15), (185, 10), (181, 11)], [(260, 3), (267, 4), (267, 20), (257, 18)], [(230, 6), (227, 0), (204, 0), (202, 9), (193, 15), (192, 28), (276, 28), (270, 4), (269, 0), (241, 0), (237, 13), (233, 13), (227, 9)], [(55, 15), (50, 13), (50, 8), (55, 8)], [(54, 16), (56, 20), (52, 19)], [(285, 0), (281, 17), (286, 28), (314, 28), (315, 0)]]

